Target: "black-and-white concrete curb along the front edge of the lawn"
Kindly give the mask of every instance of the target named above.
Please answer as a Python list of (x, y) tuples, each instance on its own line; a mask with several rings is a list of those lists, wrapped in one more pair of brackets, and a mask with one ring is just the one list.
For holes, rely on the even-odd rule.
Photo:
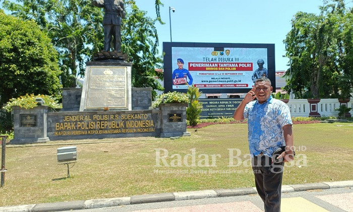
[[(338, 181), (338, 182), (323, 182), (323, 183), (308, 183), (297, 185), (283, 185), (282, 192), (297, 192), (315, 189), (331, 189), (331, 188), (351, 188), (353, 187), (353, 180)], [(235, 188), (235, 189), (216, 189), (216, 190), (202, 190), (202, 191), (185, 191), (174, 193), (160, 193), (160, 194), (145, 194), (131, 197), (119, 197), (108, 199), (91, 199), (70, 202), (54, 202), (54, 203), (40, 203), (40, 204), (26, 204), (15, 206), (0, 207), (0, 211), (17, 212), (17, 211), (62, 211), (74, 209), (91, 209), (100, 207), (111, 207), (129, 204), (142, 204), (152, 202), (164, 201), (179, 201), (187, 199), (204, 199), (216, 197), (228, 197), (257, 194), (256, 188)]]

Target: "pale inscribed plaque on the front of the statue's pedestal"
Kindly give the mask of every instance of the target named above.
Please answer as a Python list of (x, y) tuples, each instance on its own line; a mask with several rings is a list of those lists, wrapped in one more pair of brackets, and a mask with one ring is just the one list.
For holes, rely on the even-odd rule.
[(105, 107), (109, 110), (129, 110), (131, 91), (127, 67), (93, 66), (89, 67), (86, 74), (84, 110), (101, 110)]

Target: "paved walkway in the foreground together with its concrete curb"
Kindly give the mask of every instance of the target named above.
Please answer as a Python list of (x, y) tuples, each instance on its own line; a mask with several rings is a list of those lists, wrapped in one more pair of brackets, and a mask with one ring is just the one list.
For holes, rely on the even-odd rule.
[[(350, 189), (351, 187), (353, 187), (353, 181), (284, 185), (282, 186), (281, 210), (353, 211), (353, 190)], [(304, 198), (305, 193), (302, 194), (301, 192), (309, 193), (310, 197)], [(201, 203), (192, 204), (193, 201)], [(141, 206), (151, 206), (152, 204), (154, 204), (152, 209), (148, 209), (149, 207), (146, 209), (144, 206)], [(85, 211), (133, 210), (180, 212), (216, 210), (244, 212), (263, 211), (263, 203), (257, 195), (255, 188), (238, 188), (0, 207), (0, 211), (64, 211), (82, 209)]]

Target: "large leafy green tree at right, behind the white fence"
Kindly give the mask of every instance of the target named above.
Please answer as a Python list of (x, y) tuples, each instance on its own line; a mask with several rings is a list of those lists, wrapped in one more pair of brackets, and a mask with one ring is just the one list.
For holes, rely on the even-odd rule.
[(316, 98), (349, 96), (353, 25), (351, 9), (345, 6), (343, 0), (333, 0), (320, 7), (319, 15), (298, 12), (294, 16), (284, 40), (292, 60), (286, 90), (307, 91)]

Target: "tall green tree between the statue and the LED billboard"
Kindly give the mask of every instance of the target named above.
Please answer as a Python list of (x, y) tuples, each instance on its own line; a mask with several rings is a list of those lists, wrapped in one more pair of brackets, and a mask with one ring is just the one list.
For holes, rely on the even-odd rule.
[[(134, 0), (126, 1), (127, 19), (123, 23), (123, 52), (133, 59), (132, 84), (134, 87), (152, 87), (163, 90), (155, 76), (161, 74), (155, 71), (160, 68), (162, 57), (158, 56), (158, 34), (154, 24), (157, 19), (146, 16), (139, 10)], [(153, 90), (153, 96), (156, 92)]]

